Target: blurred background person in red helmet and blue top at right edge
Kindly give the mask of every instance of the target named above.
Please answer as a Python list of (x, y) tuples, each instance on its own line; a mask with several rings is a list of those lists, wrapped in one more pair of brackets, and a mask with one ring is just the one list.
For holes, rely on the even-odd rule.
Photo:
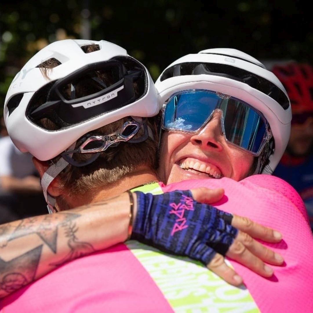
[(292, 110), (290, 139), (273, 174), (299, 192), (313, 231), (313, 67), (289, 61), (274, 63), (271, 70), (284, 85)]

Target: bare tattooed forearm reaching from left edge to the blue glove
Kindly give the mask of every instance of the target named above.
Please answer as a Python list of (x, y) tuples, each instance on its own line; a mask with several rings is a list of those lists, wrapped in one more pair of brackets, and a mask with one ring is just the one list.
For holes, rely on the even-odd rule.
[(129, 197), (123, 193), (110, 201), (0, 225), (0, 298), (69, 260), (124, 242), (128, 223)]

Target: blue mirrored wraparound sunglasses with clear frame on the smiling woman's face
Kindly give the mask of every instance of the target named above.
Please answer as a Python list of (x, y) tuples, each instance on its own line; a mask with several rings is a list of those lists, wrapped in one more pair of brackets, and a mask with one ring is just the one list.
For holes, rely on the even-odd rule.
[(258, 156), (271, 133), (264, 116), (247, 103), (208, 90), (184, 90), (163, 105), (162, 129), (196, 133), (220, 110), (226, 141)]

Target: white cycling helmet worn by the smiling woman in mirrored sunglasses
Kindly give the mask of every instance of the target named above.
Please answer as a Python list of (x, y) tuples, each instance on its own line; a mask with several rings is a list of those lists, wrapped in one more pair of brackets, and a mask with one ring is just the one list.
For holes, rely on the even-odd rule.
[(257, 171), (274, 171), (290, 136), (290, 100), (275, 74), (257, 59), (236, 49), (203, 50), (174, 61), (155, 86), (162, 104), (183, 90), (209, 90), (239, 99), (261, 112), (269, 124), (275, 148), (265, 156), (269, 158), (269, 169), (259, 164)]

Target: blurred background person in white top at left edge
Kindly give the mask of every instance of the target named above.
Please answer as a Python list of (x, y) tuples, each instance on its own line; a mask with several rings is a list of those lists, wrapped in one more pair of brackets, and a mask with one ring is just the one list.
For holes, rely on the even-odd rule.
[(13, 144), (3, 118), (0, 151), (0, 223), (44, 214), (46, 204), (32, 156)]

